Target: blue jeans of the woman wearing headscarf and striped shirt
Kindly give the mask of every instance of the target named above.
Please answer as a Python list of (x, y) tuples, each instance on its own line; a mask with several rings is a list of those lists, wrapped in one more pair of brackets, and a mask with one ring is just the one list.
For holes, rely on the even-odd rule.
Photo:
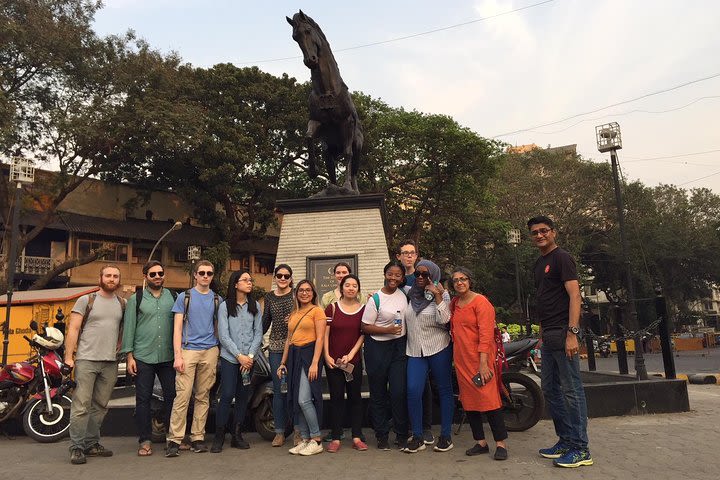
[(429, 357), (408, 357), (408, 412), (413, 436), (423, 435), (423, 390), (428, 370), (435, 379), (440, 397), (440, 435), (450, 437), (455, 409), (452, 393), (452, 346), (448, 345)]

